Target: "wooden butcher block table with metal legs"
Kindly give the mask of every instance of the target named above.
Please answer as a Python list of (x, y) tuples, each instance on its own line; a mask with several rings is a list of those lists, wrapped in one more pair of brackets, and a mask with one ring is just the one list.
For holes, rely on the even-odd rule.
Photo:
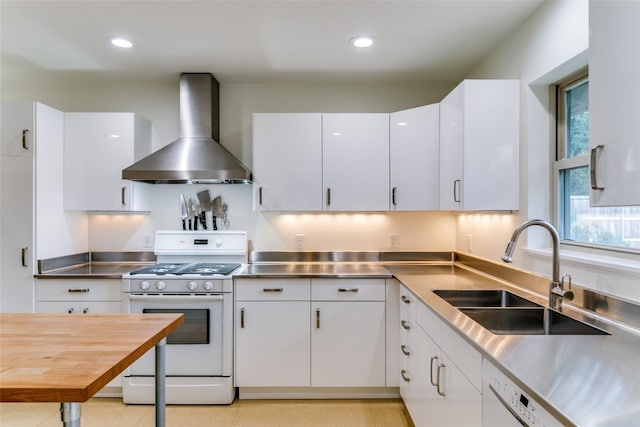
[(156, 346), (156, 425), (164, 425), (164, 348), (182, 314), (0, 314), (0, 401), (61, 402), (65, 426)]

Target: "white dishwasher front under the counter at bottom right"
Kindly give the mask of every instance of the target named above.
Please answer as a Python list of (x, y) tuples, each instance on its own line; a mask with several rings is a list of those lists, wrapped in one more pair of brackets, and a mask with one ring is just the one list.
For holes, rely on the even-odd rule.
[(498, 368), (482, 360), (483, 427), (562, 427)]

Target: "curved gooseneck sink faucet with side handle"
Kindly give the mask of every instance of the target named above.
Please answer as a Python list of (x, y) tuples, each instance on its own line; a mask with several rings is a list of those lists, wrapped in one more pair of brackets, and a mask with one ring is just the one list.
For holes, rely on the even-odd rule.
[(558, 232), (553, 225), (542, 219), (531, 219), (523, 222), (514, 230), (513, 235), (511, 235), (511, 240), (507, 244), (507, 249), (504, 251), (504, 255), (501, 259), (509, 264), (513, 262), (511, 257), (513, 256), (513, 251), (516, 249), (516, 243), (518, 242), (520, 234), (532, 225), (538, 225), (546, 229), (551, 235), (551, 240), (553, 242), (553, 271), (551, 283), (549, 284), (549, 307), (554, 310), (561, 311), (562, 300), (565, 298), (567, 301), (573, 300), (573, 292), (570, 290), (571, 276), (569, 276), (569, 289), (564, 289), (564, 276), (562, 277), (562, 281), (560, 280), (560, 238), (558, 237)]

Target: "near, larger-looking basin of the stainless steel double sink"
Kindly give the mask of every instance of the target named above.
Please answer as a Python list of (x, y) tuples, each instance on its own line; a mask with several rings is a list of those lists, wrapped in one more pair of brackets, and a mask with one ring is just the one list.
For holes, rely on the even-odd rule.
[(461, 308), (497, 335), (610, 335), (548, 308)]

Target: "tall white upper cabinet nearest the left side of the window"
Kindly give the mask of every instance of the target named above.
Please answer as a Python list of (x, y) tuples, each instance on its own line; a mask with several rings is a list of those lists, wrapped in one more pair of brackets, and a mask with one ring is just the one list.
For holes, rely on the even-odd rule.
[(465, 80), (440, 102), (440, 209), (517, 210), (519, 81)]

